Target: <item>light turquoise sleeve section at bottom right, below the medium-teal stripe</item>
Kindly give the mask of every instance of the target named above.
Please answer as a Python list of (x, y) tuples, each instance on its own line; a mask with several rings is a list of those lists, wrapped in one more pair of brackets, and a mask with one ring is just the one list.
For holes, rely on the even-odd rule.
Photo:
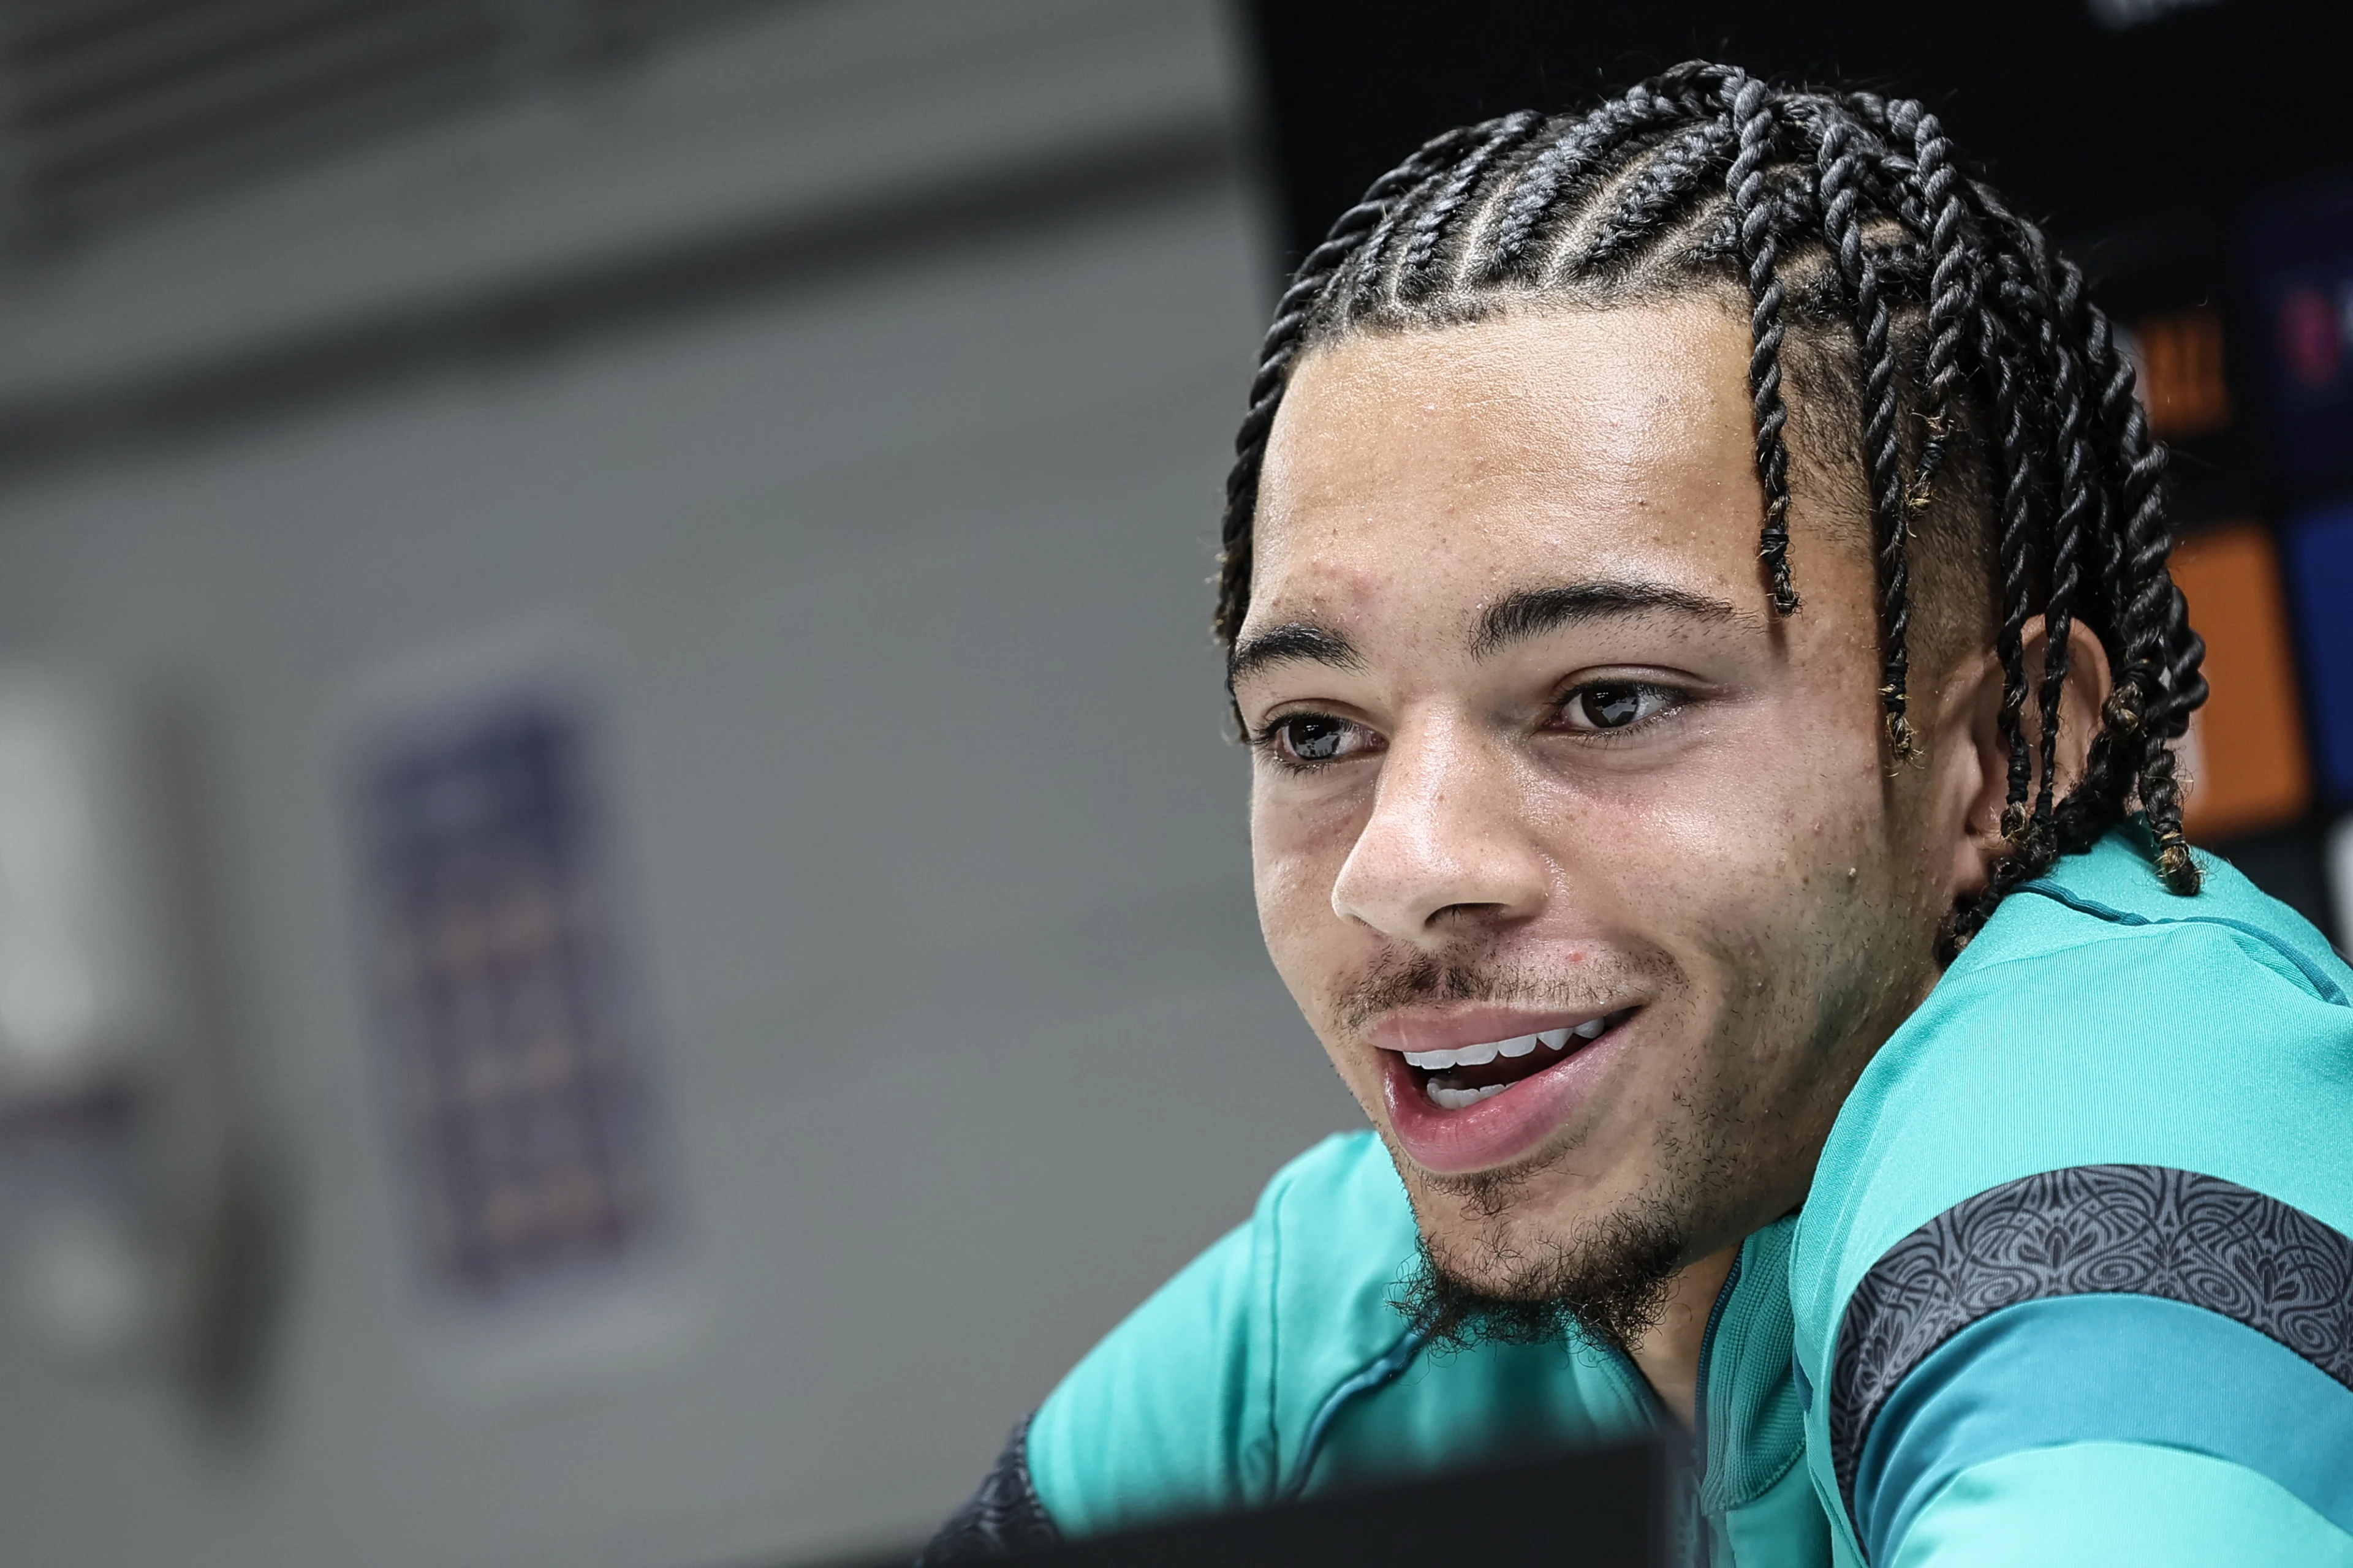
[(2028, 1448), (1953, 1476), (1894, 1568), (2353, 1568), (2353, 1535), (2275, 1481), (2148, 1443)]

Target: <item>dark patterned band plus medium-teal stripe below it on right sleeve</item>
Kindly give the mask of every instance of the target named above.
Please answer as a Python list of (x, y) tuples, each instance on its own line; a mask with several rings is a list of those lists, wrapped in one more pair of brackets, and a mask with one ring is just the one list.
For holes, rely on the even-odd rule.
[(1828, 1418), (1873, 1563), (1929, 1561), (1906, 1535), (1969, 1472), (2082, 1443), (2207, 1455), (2353, 1530), (2353, 1239), (2195, 1171), (2005, 1182), (1861, 1279)]

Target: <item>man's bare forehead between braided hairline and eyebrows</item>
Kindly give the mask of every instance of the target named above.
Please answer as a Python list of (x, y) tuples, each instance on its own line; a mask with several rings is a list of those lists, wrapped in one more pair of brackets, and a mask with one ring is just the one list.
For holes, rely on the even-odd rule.
[(1360, 334), (1268, 437), (1249, 623), (1567, 578), (1762, 604), (1748, 324), (1706, 296)]

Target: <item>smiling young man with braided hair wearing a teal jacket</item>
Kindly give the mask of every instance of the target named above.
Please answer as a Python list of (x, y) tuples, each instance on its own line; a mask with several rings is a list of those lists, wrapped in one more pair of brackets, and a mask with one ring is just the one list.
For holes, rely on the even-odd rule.
[(929, 1561), (1682, 1427), (1713, 1563), (2353, 1563), (2353, 973), (2181, 842), (2160, 468), (1918, 103), (1685, 66), (1381, 179), (1217, 618), (1372, 1133)]

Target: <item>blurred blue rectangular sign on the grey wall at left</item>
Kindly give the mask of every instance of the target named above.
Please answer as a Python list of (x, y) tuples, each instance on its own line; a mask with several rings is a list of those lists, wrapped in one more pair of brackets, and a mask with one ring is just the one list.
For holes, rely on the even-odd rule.
[(419, 1251), (464, 1300), (612, 1279), (666, 1229), (591, 717), (532, 686), (426, 708), (355, 780)]

